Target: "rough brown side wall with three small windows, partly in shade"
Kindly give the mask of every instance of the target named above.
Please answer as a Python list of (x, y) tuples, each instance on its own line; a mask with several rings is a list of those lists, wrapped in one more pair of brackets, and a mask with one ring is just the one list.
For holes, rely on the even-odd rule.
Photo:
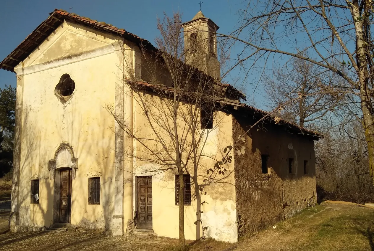
[[(233, 117), (233, 139), (252, 124), (248, 118)], [(238, 156), (234, 151), (239, 238), (316, 203), (312, 139), (261, 124), (247, 134), (245, 145), (245, 154)], [(262, 173), (261, 154), (269, 156), (269, 174)], [(294, 174), (289, 174), (289, 158), (294, 159)], [(308, 161), (308, 174), (304, 174), (304, 160)]]

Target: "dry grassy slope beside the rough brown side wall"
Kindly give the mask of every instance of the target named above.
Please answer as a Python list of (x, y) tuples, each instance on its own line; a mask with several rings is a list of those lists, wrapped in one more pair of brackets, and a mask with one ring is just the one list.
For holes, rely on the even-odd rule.
[[(354, 203), (322, 203), (303, 210), (257, 235), (244, 238), (233, 250), (337, 251), (374, 250), (374, 209)], [(220, 251), (233, 244), (208, 240), (188, 251)], [(177, 246), (165, 250), (178, 251)]]

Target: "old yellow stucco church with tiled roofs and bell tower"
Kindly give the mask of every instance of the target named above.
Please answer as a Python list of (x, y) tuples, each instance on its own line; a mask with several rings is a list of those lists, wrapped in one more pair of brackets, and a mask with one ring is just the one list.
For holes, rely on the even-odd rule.
[[(199, 12), (183, 28), (185, 44), (206, 38), (200, 70), (220, 77), (213, 38), (218, 26)], [(149, 86), (140, 47), (154, 49), (124, 29), (55, 10), (0, 63), (17, 79), (12, 231), (71, 224), (114, 235), (146, 230), (178, 238), (175, 173), (154, 172), (154, 163), (124, 161), (121, 151), (136, 155), (138, 146), (120, 136), (119, 124), (105, 109), (113, 104), (133, 128), (147, 126), (130, 87), (118, 81), (126, 57), (132, 74), (143, 80), (135, 84)], [(206, 146), (217, 158), (266, 116), (242, 104), (245, 96), (232, 86), (222, 86), (222, 92), (228, 108)], [(207, 237), (236, 242), (315, 205), (314, 140), (321, 135), (283, 120), (266, 121), (246, 134), (245, 154), (233, 152), (224, 182), (207, 188), (201, 214)], [(206, 171), (198, 176), (203, 182)], [(195, 186), (188, 175), (184, 182), (186, 239), (199, 239), (191, 199)]]

